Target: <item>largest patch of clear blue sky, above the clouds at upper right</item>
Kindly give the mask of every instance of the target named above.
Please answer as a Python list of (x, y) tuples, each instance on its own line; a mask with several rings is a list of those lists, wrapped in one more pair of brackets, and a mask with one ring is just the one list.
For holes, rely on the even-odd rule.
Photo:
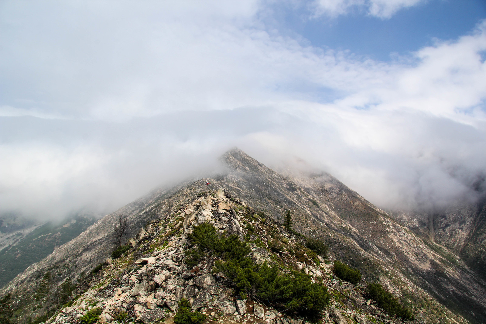
[(289, 35), (298, 34), (312, 46), (349, 50), (381, 61), (433, 45), (436, 39), (456, 39), (486, 18), (483, 0), (422, 1), (391, 18), (365, 14), (362, 8), (337, 17), (309, 18), (308, 6), (276, 7), (278, 27)]

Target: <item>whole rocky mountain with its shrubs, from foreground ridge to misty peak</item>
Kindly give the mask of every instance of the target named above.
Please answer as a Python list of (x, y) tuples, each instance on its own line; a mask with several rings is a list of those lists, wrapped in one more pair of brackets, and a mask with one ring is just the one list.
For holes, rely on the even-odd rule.
[(404, 217), (329, 174), (222, 160), (225, 174), (154, 191), (17, 275), (0, 319), (486, 323), (482, 276)]

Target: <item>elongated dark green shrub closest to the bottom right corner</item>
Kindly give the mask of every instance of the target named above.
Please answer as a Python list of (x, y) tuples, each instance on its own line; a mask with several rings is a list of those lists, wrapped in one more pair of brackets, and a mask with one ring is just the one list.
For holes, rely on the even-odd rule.
[(413, 321), (415, 316), (410, 309), (403, 307), (398, 298), (389, 291), (383, 289), (378, 283), (368, 284), (365, 290), (366, 295), (378, 303), (378, 306), (390, 316), (400, 317), (404, 321)]

